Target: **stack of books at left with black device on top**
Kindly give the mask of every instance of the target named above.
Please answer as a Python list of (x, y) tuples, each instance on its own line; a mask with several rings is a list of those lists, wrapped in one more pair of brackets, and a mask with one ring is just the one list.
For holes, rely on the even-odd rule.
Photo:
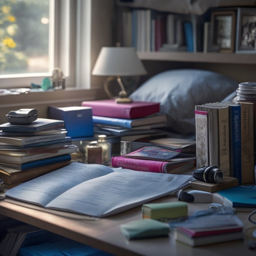
[(77, 152), (60, 120), (0, 125), (0, 179), (11, 188), (66, 166)]

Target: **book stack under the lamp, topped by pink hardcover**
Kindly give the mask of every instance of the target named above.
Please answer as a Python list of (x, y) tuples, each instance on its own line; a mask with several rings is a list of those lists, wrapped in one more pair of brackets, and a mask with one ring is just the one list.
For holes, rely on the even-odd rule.
[(166, 115), (159, 112), (160, 103), (134, 101), (116, 103), (114, 99), (83, 101), (92, 107), (96, 134), (126, 136), (155, 134), (166, 127)]

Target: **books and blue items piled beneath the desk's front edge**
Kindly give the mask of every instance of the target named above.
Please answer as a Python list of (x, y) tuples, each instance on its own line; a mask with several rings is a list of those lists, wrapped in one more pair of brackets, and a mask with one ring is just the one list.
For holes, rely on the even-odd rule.
[(28, 255), (102, 255), (111, 256), (91, 246), (80, 244), (52, 232), (20, 223), (7, 227), (0, 242), (1, 256)]

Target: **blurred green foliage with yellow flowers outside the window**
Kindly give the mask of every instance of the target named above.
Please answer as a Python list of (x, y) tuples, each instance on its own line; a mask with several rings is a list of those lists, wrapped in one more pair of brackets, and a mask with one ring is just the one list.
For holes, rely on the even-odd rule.
[(42, 18), (49, 21), (49, 0), (0, 0), (0, 74), (27, 73), (30, 58), (48, 55)]

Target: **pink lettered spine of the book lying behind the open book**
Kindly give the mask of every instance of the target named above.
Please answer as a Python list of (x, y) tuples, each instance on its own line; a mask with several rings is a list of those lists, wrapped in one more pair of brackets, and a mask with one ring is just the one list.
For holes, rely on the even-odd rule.
[(149, 172), (162, 172), (166, 173), (165, 165), (166, 162), (144, 160), (135, 158), (126, 158), (122, 156), (112, 158), (112, 166), (122, 167), (124, 169), (131, 169), (134, 171), (149, 171)]

